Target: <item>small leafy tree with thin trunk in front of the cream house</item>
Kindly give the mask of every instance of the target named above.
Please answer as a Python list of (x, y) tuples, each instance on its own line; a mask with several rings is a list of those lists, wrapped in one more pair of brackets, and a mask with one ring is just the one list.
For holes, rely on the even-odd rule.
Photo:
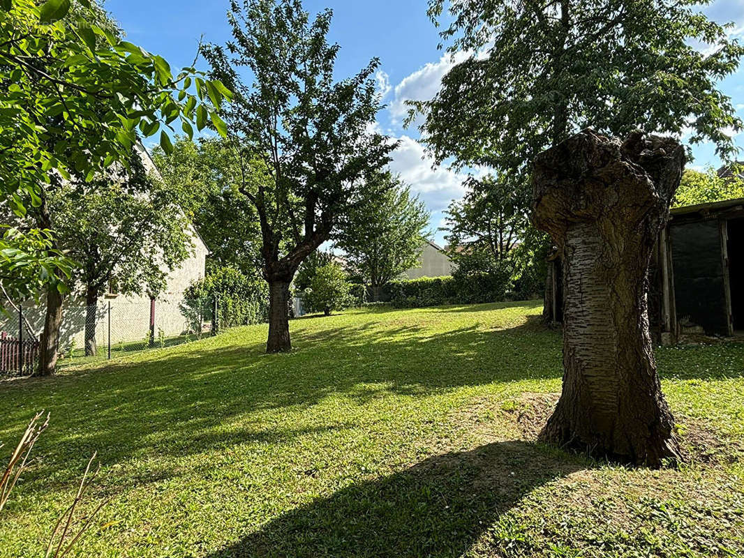
[(57, 246), (77, 262), (71, 283), (86, 300), (88, 356), (96, 353), (98, 298), (109, 284), (122, 295), (155, 298), (193, 253), (193, 192), (148, 176), (142, 156), (134, 150), (128, 170), (67, 183), (48, 200)]

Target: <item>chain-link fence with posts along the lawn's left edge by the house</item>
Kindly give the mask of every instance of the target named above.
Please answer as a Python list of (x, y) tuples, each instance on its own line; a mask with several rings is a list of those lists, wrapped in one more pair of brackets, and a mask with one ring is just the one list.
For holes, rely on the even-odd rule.
[[(39, 359), (44, 305), (6, 307), (0, 314), (0, 376), (24, 376)], [(217, 311), (217, 312), (216, 312)], [(216, 313), (215, 313), (216, 312)], [(218, 298), (158, 301), (147, 298), (64, 304), (58, 367), (105, 361), (144, 350), (196, 341), (242, 325)], [(215, 319), (217, 316), (217, 319)], [(224, 325), (222, 325), (224, 324)]]

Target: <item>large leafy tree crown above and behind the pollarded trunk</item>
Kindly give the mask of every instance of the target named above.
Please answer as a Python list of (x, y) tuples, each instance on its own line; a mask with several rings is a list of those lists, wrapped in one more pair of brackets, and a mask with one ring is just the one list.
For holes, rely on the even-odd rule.
[[(713, 141), (734, 153), (740, 129), (716, 85), (739, 67), (744, 47), (699, 13), (699, 0), (430, 0), (429, 16), (469, 54), (442, 80), (423, 112), (423, 141), (438, 163), (527, 175), (537, 153), (591, 126)], [(449, 14), (444, 15), (449, 7)], [(696, 43), (710, 46), (698, 50)], [(546, 296), (545, 315), (552, 315)]]

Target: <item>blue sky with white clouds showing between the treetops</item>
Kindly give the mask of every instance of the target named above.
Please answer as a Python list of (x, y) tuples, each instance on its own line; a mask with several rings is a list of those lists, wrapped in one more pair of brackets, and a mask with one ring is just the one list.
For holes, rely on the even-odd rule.
[[(202, 34), (207, 42), (225, 42), (229, 36), (226, 0), (108, 0), (105, 5), (129, 40), (160, 54), (173, 68), (190, 65)], [(330, 40), (341, 45), (339, 76), (359, 71), (372, 57), (380, 59), (379, 83), (388, 108), (378, 122), (383, 132), (401, 141), (391, 168), (420, 193), (432, 212), (434, 240), (443, 243), (436, 229), (449, 201), (462, 195), (465, 177), (446, 168), (432, 169), (417, 131), (401, 125), (403, 102), (431, 97), (451, 67), (437, 51), (437, 30), (426, 17), (426, 0), (305, 0), (304, 5), (311, 12), (333, 9)], [(705, 11), (716, 21), (735, 22), (734, 33), (744, 39), (744, 0), (715, 0)], [(721, 87), (744, 116), (744, 68)], [(737, 143), (744, 147), (744, 136)], [(720, 162), (710, 145), (693, 147), (693, 154), (692, 167)]]

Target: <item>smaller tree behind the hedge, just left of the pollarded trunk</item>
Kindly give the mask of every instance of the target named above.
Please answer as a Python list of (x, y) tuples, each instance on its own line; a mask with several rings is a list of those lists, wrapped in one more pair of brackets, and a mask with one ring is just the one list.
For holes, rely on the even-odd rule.
[(449, 204), (443, 230), (458, 268), (501, 271), (529, 226), (529, 196), (510, 175), (470, 177), (466, 193)]

